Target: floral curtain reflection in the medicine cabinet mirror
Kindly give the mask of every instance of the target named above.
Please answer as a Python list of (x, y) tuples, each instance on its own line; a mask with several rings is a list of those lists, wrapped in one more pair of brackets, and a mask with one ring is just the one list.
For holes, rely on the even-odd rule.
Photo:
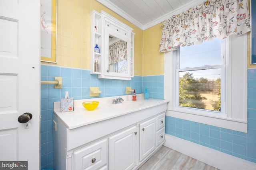
[(120, 40), (108, 46), (108, 64), (127, 60), (127, 42)]

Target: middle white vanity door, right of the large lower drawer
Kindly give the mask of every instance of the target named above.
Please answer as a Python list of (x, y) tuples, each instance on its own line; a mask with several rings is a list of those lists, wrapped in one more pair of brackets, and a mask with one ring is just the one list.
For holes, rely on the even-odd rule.
[(130, 170), (136, 166), (136, 126), (109, 138), (109, 170)]

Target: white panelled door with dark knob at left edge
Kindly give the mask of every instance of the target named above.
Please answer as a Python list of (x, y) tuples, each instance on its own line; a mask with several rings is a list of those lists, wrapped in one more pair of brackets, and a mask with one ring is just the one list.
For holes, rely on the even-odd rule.
[(40, 0), (0, 0), (0, 161), (40, 169), (39, 116)]

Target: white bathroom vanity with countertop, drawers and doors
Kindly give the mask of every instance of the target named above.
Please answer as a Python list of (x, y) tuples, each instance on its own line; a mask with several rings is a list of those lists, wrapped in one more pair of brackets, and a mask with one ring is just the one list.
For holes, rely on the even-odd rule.
[[(164, 143), (166, 100), (144, 100), (143, 94), (75, 100), (74, 111), (60, 112), (54, 102), (55, 170), (138, 169)], [(87, 111), (82, 102), (97, 100)]]

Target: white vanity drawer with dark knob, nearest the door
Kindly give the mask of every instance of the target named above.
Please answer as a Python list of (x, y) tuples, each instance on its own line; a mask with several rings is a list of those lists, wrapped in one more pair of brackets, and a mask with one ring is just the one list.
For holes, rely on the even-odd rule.
[(107, 139), (74, 151), (74, 170), (95, 170), (107, 163)]

